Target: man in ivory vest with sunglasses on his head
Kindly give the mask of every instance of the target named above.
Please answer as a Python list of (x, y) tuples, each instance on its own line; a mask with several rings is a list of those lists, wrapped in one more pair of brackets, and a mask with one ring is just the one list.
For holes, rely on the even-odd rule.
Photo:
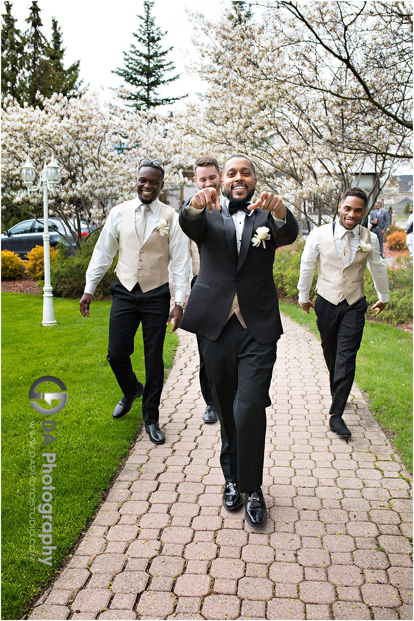
[[(80, 300), (81, 314), (89, 317), (93, 292), (119, 250), (115, 270), (117, 279), (111, 284), (113, 302), (106, 359), (124, 396), (116, 405), (113, 417), (119, 419), (127, 414), (142, 395), (145, 431), (154, 444), (165, 442), (159, 427), (165, 326), (172, 321), (172, 332), (175, 332), (180, 325), (185, 308), (189, 260), (188, 239), (180, 229), (178, 214), (158, 199), (163, 178), (162, 161), (140, 160), (137, 197), (122, 202), (109, 212), (86, 270), (85, 293)], [(171, 312), (167, 269), (170, 258), (175, 297)], [(134, 337), (140, 323), (144, 340), (145, 387), (138, 381), (131, 365)]]

